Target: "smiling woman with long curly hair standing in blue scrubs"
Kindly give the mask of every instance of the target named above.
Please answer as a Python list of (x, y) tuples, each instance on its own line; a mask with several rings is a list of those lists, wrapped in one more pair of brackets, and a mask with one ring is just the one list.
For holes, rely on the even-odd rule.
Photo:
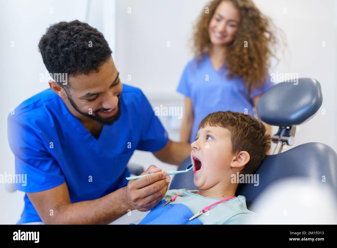
[[(267, 68), (275, 38), (252, 1), (214, 0), (205, 9), (195, 26), (195, 58), (177, 88), (185, 95), (181, 142), (192, 143), (198, 124), (210, 113), (253, 116), (259, 97), (274, 85)], [(271, 126), (264, 125), (270, 134)]]

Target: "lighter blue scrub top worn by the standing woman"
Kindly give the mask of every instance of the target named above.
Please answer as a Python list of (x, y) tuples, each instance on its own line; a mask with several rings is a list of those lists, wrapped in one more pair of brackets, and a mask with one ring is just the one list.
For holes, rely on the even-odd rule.
[(208, 53), (200, 55), (200, 59), (199, 64), (196, 64), (195, 58), (187, 63), (177, 88), (178, 92), (191, 98), (193, 104), (194, 121), (190, 143), (195, 141), (198, 125), (210, 113), (230, 110), (254, 117), (252, 97), (275, 85), (266, 71), (263, 87), (251, 89), (252, 97), (249, 97), (246, 82), (241, 77), (227, 79), (226, 63), (222, 69), (215, 71)]

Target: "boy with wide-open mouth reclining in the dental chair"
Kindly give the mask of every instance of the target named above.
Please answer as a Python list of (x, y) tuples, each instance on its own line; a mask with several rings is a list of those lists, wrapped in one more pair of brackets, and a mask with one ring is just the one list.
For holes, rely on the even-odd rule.
[[(198, 190), (168, 190), (139, 224), (251, 223), (258, 215), (247, 209), (245, 196), (235, 195), (239, 179), (233, 180), (232, 175), (256, 171), (270, 149), (271, 137), (265, 132), (263, 123), (250, 115), (231, 111), (209, 114), (201, 121), (191, 144), (194, 185)], [(179, 193), (163, 207), (169, 197)], [(227, 200), (189, 220), (223, 199)]]

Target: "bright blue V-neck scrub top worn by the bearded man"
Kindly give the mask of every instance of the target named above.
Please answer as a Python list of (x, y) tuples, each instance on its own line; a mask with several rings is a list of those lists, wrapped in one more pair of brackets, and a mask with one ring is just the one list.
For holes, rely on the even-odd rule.
[[(14, 188), (37, 192), (66, 182), (75, 203), (126, 186), (133, 151), (161, 150), (168, 137), (140, 89), (123, 84), (120, 101), (120, 118), (103, 125), (98, 139), (51, 89), (21, 103), (8, 115), (8, 142), (15, 173), (27, 174), (27, 185)], [(24, 201), (17, 224), (41, 221), (27, 194)]]

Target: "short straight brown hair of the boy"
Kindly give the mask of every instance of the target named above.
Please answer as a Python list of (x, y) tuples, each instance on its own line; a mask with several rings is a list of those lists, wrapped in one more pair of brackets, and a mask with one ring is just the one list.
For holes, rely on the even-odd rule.
[(240, 174), (253, 174), (265, 159), (270, 149), (271, 136), (266, 133), (262, 122), (244, 113), (218, 111), (206, 116), (199, 124), (205, 126), (224, 127), (231, 132), (232, 152), (237, 155), (246, 151), (250, 160)]

